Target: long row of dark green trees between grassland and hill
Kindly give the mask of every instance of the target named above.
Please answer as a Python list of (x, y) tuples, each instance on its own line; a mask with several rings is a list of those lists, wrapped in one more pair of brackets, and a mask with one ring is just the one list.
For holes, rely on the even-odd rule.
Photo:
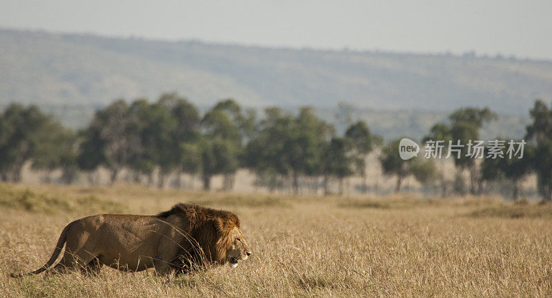
[[(176, 176), (181, 186), (184, 173), (199, 176), (210, 189), (214, 175), (223, 175), (226, 190), (233, 188), (235, 173), (250, 169), (256, 184), (270, 191), (289, 186), (293, 193), (308, 189), (330, 193), (337, 181), (339, 193), (351, 175), (362, 177), (359, 187), (367, 191), (366, 158), (379, 154), (382, 171), (396, 178), (400, 191), (408, 176), (422, 184), (438, 185), (443, 196), (451, 191), (484, 191), (484, 184), (508, 181), (513, 197), (520, 196), (520, 183), (530, 173), (538, 177), (538, 191), (552, 200), (552, 106), (535, 100), (526, 127), (528, 144), (522, 159), (470, 158), (464, 151), (454, 159), (457, 175), (453, 185), (444, 179), (439, 160), (402, 160), (400, 138), (384, 143), (362, 120), (349, 119), (343, 134), (331, 123), (318, 118), (312, 107), (288, 111), (268, 107), (258, 116), (253, 109), (240, 107), (233, 99), (219, 101), (203, 114), (183, 96), (162, 94), (150, 103), (138, 98), (128, 103), (119, 99), (96, 111), (88, 127), (72, 131), (38, 107), (12, 103), (0, 114), (0, 180), (19, 182), (23, 165), (46, 172), (61, 169), (61, 181), (72, 183), (77, 173), (108, 169), (110, 182), (119, 179), (122, 169), (137, 183), (163, 187)], [(443, 123), (431, 127), (427, 140), (477, 140), (485, 123), (497, 118), (488, 108), (453, 111)], [(469, 173), (465, 189), (464, 171)], [(154, 179), (157, 175), (157, 179)]]

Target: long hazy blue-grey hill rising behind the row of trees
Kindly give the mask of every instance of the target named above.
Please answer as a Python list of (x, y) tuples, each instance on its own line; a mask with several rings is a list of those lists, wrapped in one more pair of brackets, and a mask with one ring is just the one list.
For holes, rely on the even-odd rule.
[(464, 106), (524, 116), (535, 98), (552, 98), (550, 61), (500, 56), (274, 49), (19, 30), (0, 30), (0, 47), (0, 107), (37, 103), (73, 127), (86, 125), (95, 108), (115, 98), (157, 98), (172, 90), (201, 109), (227, 97), (248, 107), (333, 109), (346, 101), (375, 116), (380, 110), (420, 111), (414, 118)]

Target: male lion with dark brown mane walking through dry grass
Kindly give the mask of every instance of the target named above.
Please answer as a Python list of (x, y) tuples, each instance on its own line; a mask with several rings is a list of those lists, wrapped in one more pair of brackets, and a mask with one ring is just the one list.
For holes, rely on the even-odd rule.
[[(65, 243), (63, 258), (50, 268)], [(27, 275), (65, 270), (97, 275), (103, 264), (129, 272), (153, 267), (161, 275), (178, 274), (208, 264), (235, 268), (250, 254), (234, 213), (180, 203), (158, 215), (103, 214), (75, 220), (63, 228), (50, 260)]]

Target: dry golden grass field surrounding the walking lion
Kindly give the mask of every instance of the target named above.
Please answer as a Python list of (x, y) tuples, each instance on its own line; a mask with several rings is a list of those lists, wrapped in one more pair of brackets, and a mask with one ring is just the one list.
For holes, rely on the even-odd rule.
[[(66, 224), (176, 202), (236, 213), (253, 251), (172, 279), (103, 266), (12, 279)], [(552, 297), (552, 206), (492, 198), (293, 197), (0, 184), (0, 297)]]

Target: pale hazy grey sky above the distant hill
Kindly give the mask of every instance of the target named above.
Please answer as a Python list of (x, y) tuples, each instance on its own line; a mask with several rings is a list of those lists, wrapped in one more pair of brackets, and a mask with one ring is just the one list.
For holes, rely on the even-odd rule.
[(3, 1), (0, 27), (552, 59), (552, 1)]

